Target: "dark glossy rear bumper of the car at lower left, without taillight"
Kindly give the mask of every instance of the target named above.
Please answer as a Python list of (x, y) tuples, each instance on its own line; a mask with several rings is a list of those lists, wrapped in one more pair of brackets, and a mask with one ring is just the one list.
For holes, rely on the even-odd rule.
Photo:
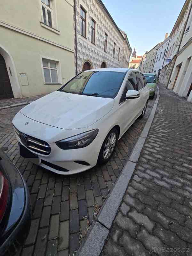
[(28, 187), (17, 167), (0, 151), (3, 168), (9, 177), (11, 185), (12, 204), (9, 214), (4, 216), (1, 225), (6, 223), (0, 234), (0, 255), (10, 249), (13, 244), (22, 244), (26, 239), (31, 224), (31, 205)]

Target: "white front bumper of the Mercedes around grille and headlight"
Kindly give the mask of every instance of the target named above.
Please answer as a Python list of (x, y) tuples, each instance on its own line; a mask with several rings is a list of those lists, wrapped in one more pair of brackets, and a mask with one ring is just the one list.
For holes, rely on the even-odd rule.
[[(31, 152), (33, 152), (39, 157), (39, 160), (37, 160), (36, 158), (30, 158), (29, 160), (31, 162), (38, 164), (43, 168), (48, 169), (52, 172), (63, 174), (63, 175), (70, 175), (78, 172), (83, 172), (85, 170), (92, 168), (97, 164), (100, 148), (103, 143), (103, 139), (100, 138), (99, 136), (97, 136), (92, 141), (92, 143), (87, 147), (79, 148), (79, 149), (63, 150), (63, 149), (60, 149), (55, 143), (55, 141), (85, 132), (89, 130), (89, 128), (88, 129), (86, 128), (86, 130), (75, 129), (75, 131), (64, 130), (64, 129), (52, 127), (52, 126), (31, 120), (28, 117), (22, 115), (21, 113), (18, 113), (18, 114), (19, 114), (18, 118), (14, 118), (13, 120), (13, 125), (21, 133), (25, 133), (29, 136), (36, 137), (39, 140), (46, 141), (51, 148), (51, 153), (46, 156), (43, 154), (39, 154), (28, 148)], [(30, 120), (29, 121), (30, 127), (32, 129), (29, 126), (20, 125), (21, 123), (25, 124), (26, 122), (28, 122), (28, 120)], [(16, 137), (17, 137), (17, 140), (20, 142), (20, 144), (26, 147), (20, 140), (20, 137), (17, 135), (17, 133), (16, 133)], [(79, 161), (81, 164), (79, 163)], [(83, 164), (84, 162), (86, 162), (87, 164), (86, 165)], [(57, 168), (57, 166), (61, 168)], [(66, 170), (62, 170), (62, 168)]]

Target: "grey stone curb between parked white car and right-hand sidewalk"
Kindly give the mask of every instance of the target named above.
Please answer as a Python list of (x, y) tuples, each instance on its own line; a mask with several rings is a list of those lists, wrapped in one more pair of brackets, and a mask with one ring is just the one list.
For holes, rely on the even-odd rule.
[[(97, 220), (92, 224), (89, 230), (86, 240), (80, 246), (77, 255), (78, 256), (99, 256), (102, 248), (105, 244), (105, 240), (108, 236), (109, 229), (115, 219), (118, 208), (123, 199), (124, 193), (127, 189), (129, 181), (131, 180), (132, 174), (134, 172), (135, 166), (138, 162), (141, 150), (147, 138), (149, 129), (153, 122), (153, 118), (156, 113), (157, 104), (159, 101), (159, 88), (157, 87), (157, 98), (155, 100), (154, 106), (148, 117), (148, 120), (141, 132), (141, 135), (132, 150), (131, 156), (128, 162), (125, 164), (122, 172), (120, 173), (116, 184), (109, 193), (105, 203), (100, 209)], [(102, 227), (102, 228), (101, 228)]]

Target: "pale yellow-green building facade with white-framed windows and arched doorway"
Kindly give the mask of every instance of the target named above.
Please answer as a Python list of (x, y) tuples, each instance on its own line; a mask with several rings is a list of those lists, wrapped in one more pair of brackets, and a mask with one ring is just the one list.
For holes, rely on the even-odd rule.
[(74, 76), (71, 31), (72, 0), (1, 2), (0, 99), (52, 92)]

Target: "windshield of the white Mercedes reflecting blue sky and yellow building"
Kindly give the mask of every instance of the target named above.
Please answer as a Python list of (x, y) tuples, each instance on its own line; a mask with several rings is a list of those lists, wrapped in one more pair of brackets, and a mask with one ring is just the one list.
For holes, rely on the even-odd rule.
[(74, 77), (59, 91), (91, 95), (103, 98), (115, 98), (126, 73), (114, 71), (87, 71)]

